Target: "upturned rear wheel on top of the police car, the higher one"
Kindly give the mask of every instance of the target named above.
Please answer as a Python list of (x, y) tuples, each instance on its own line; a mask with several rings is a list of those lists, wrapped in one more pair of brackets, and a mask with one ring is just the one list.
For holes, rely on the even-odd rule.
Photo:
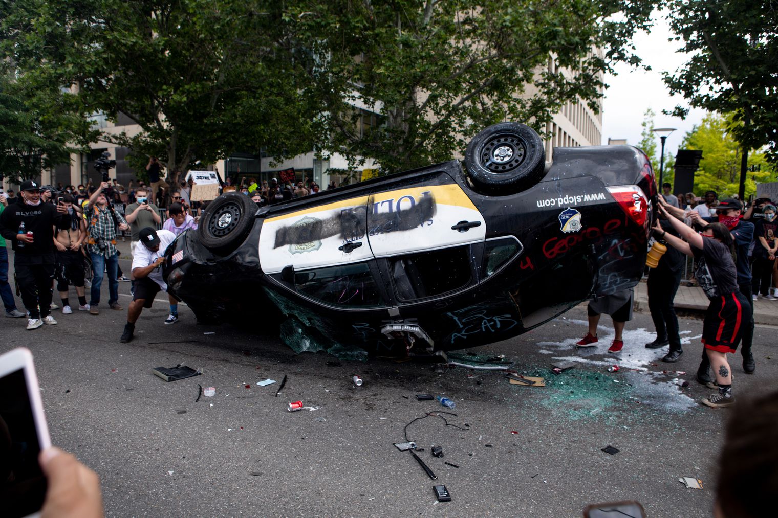
[(545, 148), (526, 124), (501, 122), (473, 137), (464, 153), (464, 166), (478, 191), (513, 194), (543, 177)]

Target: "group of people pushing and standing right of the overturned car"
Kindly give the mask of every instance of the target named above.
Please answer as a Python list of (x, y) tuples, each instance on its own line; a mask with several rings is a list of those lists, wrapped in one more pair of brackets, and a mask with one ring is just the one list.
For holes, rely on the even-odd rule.
[[(776, 204), (769, 198), (757, 198), (744, 211), (740, 200), (719, 200), (714, 191), (707, 191), (703, 200), (696, 203), (693, 194), (675, 196), (670, 194), (670, 184), (662, 187), (664, 194), (658, 198), (660, 217), (654, 226), (654, 238), (667, 251), (648, 275), (648, 305), (657, 338), (646, 348), (668, 347), (663, 362), (677, 362), (683, 355), (673, 300), (681, 283), (683, 255), (693, 257), (696, 280), (710, 299), (696, 379), (717, 389), (716, 394), (703, 398), (703, 404), (727, 407), (734, 403), (727, 354), (740, 347), (743, 372), (755, 372), (753, 303), (760, 296), (778, 300), (774, 287), (778, 281)], [(592, 301), (587, 335), (576, 345), (597, 345), (598, 322), (605, 313), (611, 315), (615, 329), (608, 352), (621, 352), (622, 331), (632, 315), (632, 296), (629, 289)]]

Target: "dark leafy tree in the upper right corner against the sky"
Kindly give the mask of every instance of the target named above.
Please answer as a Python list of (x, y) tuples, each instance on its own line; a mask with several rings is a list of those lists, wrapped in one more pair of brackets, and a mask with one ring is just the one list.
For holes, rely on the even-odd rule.
[[(767, 146), (769, 158), (778, 160), (778, 2), (671, 0), (668, 11), (689, 61), (664, 82), (691, 107), (732, 114), (729, 129), (743, 148), (745, 180), (748, 150)], [(688, 113), (680, 106), (672, 112)]]

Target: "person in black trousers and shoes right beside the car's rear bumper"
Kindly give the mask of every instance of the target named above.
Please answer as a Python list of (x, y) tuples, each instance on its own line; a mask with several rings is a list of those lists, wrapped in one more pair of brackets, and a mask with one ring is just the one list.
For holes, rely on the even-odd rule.
[[(660, 221), (664, 232), (678, 236), (668, 220)], [(660, 242), (668, 244), (659, 239)], [(651, 268), (648, 273), (648, 309), (651, 320), (657, 330), (657, 338), (646, 344), (647, 348), (658, 349), (670, 345), (670, 352), (662, 358), (663, 362), (677, 362), (683, 354), (681, 336), (678, 334), (678, 317), (675, 316), (673, 300), (678, 286), (681, 285), (683, 254), (674, 247), (668, 246), (667, 252), (659, 260), (657, 268)]]

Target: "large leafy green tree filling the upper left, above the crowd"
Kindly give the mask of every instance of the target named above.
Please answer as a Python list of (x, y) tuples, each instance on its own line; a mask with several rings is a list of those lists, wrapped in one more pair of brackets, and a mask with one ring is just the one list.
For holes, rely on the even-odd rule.
[(17, 68), (77, 86), (83, 116), (121, 113), (140, 126), (100, 136), (130, 147), (138, 171), (149, 156), (172, 171), (235, 149), (313, 148), (314, 107), (300, 96), (308, 76), (279, 2), (16, 0), (0, 9), (2, 51)]

